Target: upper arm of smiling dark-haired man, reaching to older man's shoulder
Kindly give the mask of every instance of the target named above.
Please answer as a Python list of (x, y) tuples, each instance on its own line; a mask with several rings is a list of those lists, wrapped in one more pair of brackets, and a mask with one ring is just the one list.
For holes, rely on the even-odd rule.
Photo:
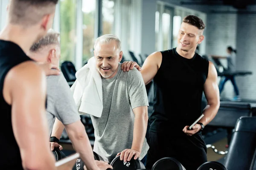
[(151, 80), (157, 74), (157, 71), (160, 67), (161, 62), (162, 62), (161, 52), (155, 52), (153, 54), (150, 54), (145, 59), (145, 62), (143, 63), (143, 66), (140, 71), (143, 76), (145, 85), (151, 82)]

